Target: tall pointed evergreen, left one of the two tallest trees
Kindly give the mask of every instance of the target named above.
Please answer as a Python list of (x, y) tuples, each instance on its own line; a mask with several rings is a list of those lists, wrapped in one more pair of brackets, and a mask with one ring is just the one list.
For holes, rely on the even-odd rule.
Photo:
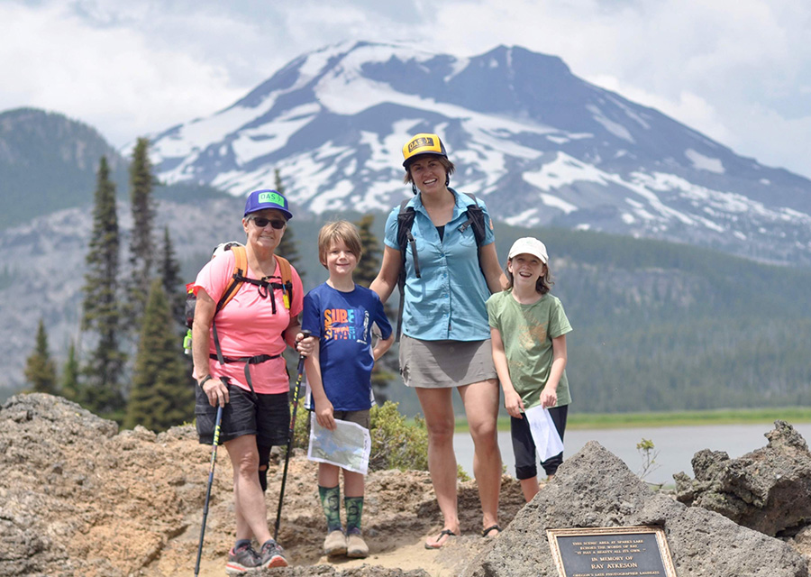
[(119, 350), (121, 310), (118, 301), (119, 230), (115, 185), (103, 156), (99, 162), (93, 231), (85, 275), (82, 327), (94, 331), (96, 350), (84, 367), (87, 387), (79, 402), (97, 415), (121, 418), (124, 354)]

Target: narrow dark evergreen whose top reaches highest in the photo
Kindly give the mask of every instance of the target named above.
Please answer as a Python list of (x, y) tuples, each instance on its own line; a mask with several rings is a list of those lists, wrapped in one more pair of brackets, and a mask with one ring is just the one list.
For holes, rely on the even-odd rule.
[(126, 312), (132, 330), (135, 330), (143, 316), (147, 294), (150, 290), (152, 260), (155, 254), (155, 243), (152, 238), (152, 225), (155, 220), (155, 206), (152, 198), (154, 179), (150, 166), (149, 146), (148, 139), (139, 138), (132, 151), (132, 164), (130, 165), (131, 278), (127, 285)]

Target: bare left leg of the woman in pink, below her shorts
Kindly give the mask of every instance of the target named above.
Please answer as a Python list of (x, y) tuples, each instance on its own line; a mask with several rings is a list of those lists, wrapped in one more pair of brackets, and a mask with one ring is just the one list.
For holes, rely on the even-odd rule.
[(236, 511), (236, 538), (263, 544), (271, 536), (265, 494), (259, 482), (259, 453), (255, 435), (241, 435), (225, 443), (233, 467), (233, 504)]

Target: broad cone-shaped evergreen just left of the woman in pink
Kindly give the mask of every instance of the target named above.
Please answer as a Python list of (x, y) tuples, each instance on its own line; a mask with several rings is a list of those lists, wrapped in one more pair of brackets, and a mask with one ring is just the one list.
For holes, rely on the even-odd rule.
[(160, 279), (154, 279), (141, 324), (124, 426), (152, 431), (191, 420), (195, 389), (187, 378), (183, 349)]

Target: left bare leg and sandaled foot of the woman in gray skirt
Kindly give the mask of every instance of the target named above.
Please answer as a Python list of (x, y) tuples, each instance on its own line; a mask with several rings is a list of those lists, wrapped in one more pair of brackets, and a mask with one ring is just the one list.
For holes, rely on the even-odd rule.
[[(442, 527), (459, 535), (459, 512), (456, 500), (456, 455), (453, 453), (453, 417), (451, 389), (415, 388), (428, 429), (428, 471), (433, 492), (442, 511)], [(426, 545), (442, 545), (441, 539), (429, 539)]]

